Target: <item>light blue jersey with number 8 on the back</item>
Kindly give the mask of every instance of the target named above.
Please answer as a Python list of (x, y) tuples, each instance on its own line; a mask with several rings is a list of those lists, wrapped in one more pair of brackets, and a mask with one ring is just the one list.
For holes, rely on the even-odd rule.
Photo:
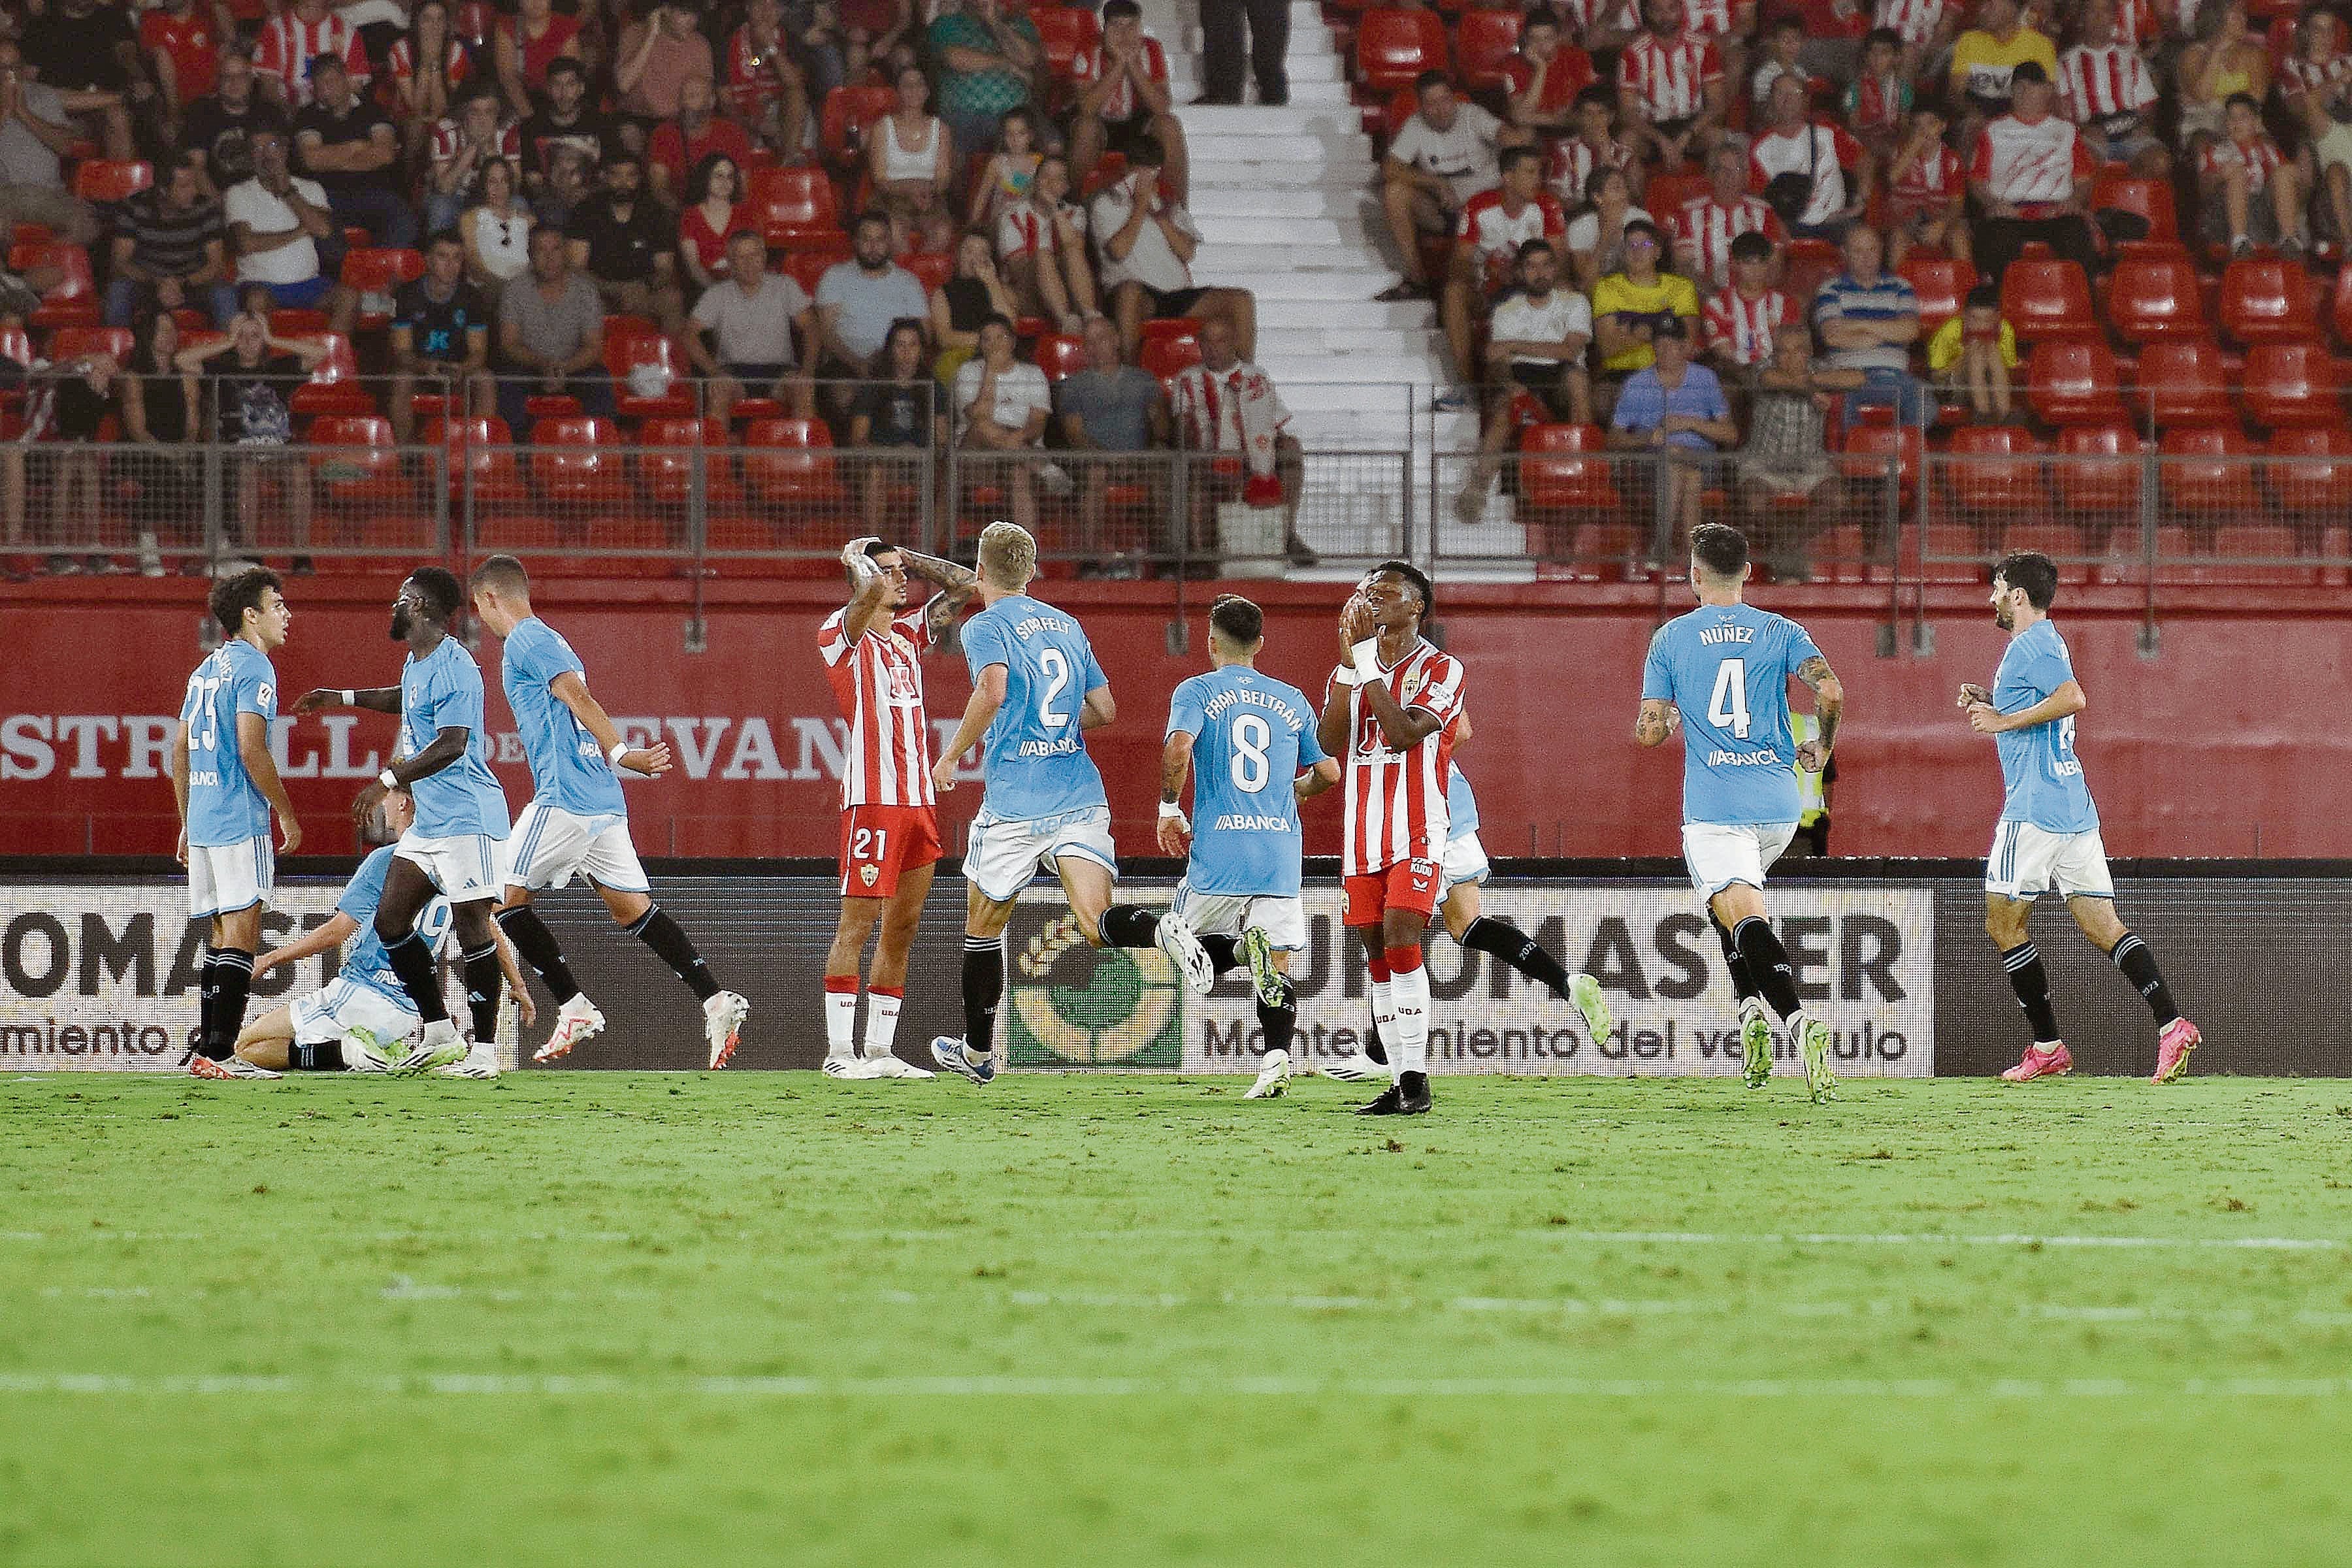
[(1192, 736), (1195, 893), (1296, 898), (1298, 797), (1291, 780), (1324, 759), (1315, 710), (1296, 686), (1225, 665), (1176, 686), (1169, 733)]

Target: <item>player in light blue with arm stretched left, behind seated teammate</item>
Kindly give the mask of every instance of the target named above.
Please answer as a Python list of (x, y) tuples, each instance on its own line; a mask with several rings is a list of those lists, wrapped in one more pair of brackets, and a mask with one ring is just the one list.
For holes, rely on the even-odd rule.
[[(423, 1039), (400, 1063), (402, 1072), (452, 1079), (499, 1077), (499, 903), (506, 865), (506, 795), (489, 771), (482, 724), (482, 670), (466, 644), (449, 635), (466, 590), (442, 567), (419, 567), (393, 599), (393, 639), (409, 644), (397, 686), (306, 691), (294, 712), (367, 708), (400, 717), (400, 757), (360, 790), (350, 811), (367, 820), (386, 795), (407, 790), (416, 820), (393, 844), (376, 903), (383, 961), (423, 1018)], [(473, 1046), (459, 1037), (442, 1004), (433, 947), (416, 933), (416, 917), (433, 896), (449, 900), (456, 926)]]

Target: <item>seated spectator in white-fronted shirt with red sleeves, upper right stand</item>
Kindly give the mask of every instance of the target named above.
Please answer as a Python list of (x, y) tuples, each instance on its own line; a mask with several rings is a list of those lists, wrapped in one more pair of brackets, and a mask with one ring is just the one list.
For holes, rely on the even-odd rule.
[(1976, 134), (1969, 160), (1969, 193), (1983, 214), (1969, 247), (1976, 270), (1999, 282), (2018, 252), (2042, 240), (2091, 273), (2098, 266), (2089, 219), (2098, 165), (2074, 127), (2051, 113), (2058, 89), (2042, 66), (2025, 61), (2009, 80), (2016, 110)]

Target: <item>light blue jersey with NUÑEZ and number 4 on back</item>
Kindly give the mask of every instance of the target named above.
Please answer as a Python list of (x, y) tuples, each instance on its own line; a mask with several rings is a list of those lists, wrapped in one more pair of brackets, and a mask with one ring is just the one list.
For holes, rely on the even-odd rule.
[(1788, 682), (1820, 658), (1802, 625), (1752, 604), (1700, 604), (1658, 628), (1642, 701), (1682, 710), (1682, 820), (1795, 823)]

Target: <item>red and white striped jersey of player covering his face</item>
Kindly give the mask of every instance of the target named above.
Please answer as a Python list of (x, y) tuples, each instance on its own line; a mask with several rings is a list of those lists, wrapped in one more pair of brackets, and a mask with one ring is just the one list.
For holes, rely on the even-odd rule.
[[(1454, 762), (1454, 719), (1463, 712), (1463, 668), (1428, 642), (1416, 642), (1378, 679), (1399, 708), (1421, 708), (1439, 726), (1418, 745), (1395, 752), (1381, 736), (1362, 686), (1348, 689), (1345, 877), (1388, 870), (1399, 860), (1437, 860), (1446, 851), (1446, 766)], [(1329, 696), (1327, 684), (1324, 701)]]

